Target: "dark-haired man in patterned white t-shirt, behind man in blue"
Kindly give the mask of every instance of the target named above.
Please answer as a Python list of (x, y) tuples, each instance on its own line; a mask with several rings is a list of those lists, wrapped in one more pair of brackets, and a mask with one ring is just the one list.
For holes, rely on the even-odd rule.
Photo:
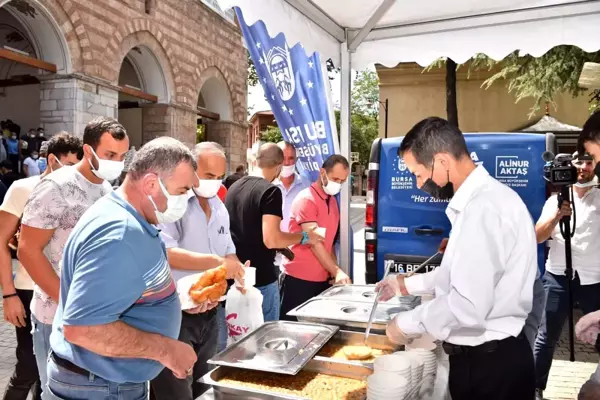
[(44, 400), (52, 398), (47, 394), (46, 361), (58, 306), (63, 248), (83, 213), (112, 192), (109, 181), (121, 175), (128, 150), (129, 138), (117, 120), (92, 120), (83, 133), (81, 161), (42, 180), (25, 206), (18, 255), (35, 283), (33, 346)]

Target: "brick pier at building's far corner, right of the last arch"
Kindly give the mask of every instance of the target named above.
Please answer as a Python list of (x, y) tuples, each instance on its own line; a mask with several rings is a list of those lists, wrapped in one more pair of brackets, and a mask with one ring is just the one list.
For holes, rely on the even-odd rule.
[(225, 149), (229, 171), (246, 165), (248, 125), (232, 121), (207, 121), (206, 140), (217, 142)]

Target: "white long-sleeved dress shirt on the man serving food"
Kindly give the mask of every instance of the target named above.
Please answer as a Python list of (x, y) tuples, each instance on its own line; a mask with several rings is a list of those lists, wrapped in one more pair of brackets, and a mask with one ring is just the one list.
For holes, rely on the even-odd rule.
[(525, 204), (480, 166), (456, 191), (446, 215), (452, 232), (440, 267), (406, 279), (410, 293), (435, 298), (398, 315), (396, 323), (406, 334), (428, 332), (456, 345), (518, 336), (531, 311), (537, 271)]

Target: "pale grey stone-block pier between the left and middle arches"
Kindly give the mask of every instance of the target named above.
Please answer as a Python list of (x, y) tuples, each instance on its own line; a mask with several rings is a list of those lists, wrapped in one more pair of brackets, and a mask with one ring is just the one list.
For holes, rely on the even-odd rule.
[(76, 75), (40, 81), (40, 125), (50, 135), (65, 130), (82, 137), (93, 118), (117, 116), (119, 94), (108, 84)]

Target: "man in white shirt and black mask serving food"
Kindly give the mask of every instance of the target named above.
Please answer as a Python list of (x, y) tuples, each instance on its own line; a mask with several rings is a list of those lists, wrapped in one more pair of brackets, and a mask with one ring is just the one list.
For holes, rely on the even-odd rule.
[(523, 328), (532, 308), (537, 249), (525, 204), (473, 163), (460, 130), (441, 118), (415, 125), (399, 154), (421, 190), (450, 200), (452, 232), (437, 270), (378, 284), (382, 301), (435, 294), (398, 314), (388, 337), (407, 343), (427, 332), (443, 341), (453, 400), (533, 399), (533, 354)]

